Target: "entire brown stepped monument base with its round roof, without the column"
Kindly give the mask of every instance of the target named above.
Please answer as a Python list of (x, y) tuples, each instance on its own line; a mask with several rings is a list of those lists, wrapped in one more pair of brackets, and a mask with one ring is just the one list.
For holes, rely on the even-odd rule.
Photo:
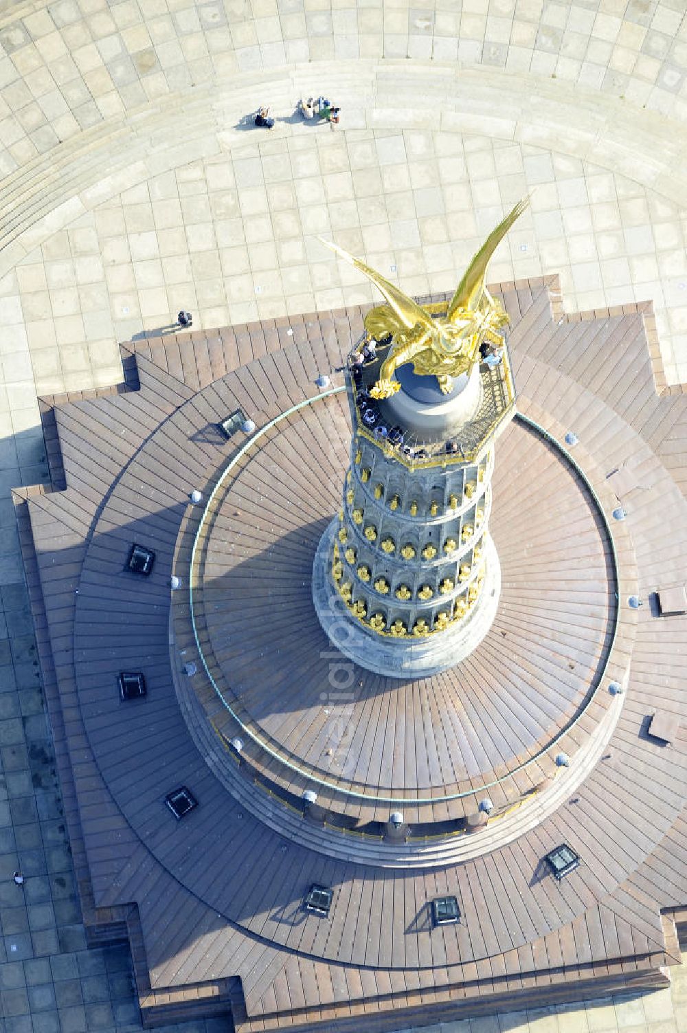
[[(549, 287), (495, 291), (519, 407), (493, 480), (501, 600), (432, 679), (351, 672), (312, 604), (363, 310), (138, 342), (121, 394), (45, 405), (59, 490), (27, 493), (24, 534), (41, 663), (87, 921), (127, 929), (147, 1021), (394, 1029), (661, 985), (679, 962), (687, 617), (652, 594), (687, 570), (685, 401), (656, 394), (642, 311), (566, 320)], [(562, 843), (580, 864), (556, 883)], [(460, 920), (437, 925), (446, 897)]]

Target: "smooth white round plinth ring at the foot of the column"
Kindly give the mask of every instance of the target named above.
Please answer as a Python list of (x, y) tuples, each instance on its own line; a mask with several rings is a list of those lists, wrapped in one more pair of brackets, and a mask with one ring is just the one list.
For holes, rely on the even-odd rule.
[(333, 646), (354, 663), (389, 678), (429, 678), (464, 660), (492, 626), (499, 604), (501, 567), (491, 538), (485, 556), (487, 573), (479, 596), (455, 629), (425, 638), (393, 638), (366, 629), (353, 618), (332, 582), (335, 518), (322, 535), (313, 564), (312, 594), (317, 617)]

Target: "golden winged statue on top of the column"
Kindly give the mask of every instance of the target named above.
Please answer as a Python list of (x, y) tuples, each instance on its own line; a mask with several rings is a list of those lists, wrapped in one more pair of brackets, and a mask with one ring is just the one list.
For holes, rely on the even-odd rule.
[(528, 205), (529, 197), (523, 198), (492, 230), (456, 288), (446, 315), (437, 318), (365, 262), (336, 244), (322, 241), (341, 258), (365, 273), (388, 303), (372, 309), (365, 317), (365, 328), (371, 337), (381, 340), (392, 336), (392, 347), (381, 364), (379, 379), (370, 390), (374, 398), (388, 398), (399, 390), (400, 383), (392, 378), (397, 368), (405, 363), (412, 363), (415, 373), (420, 376), (435, 376), (441, 390), (447, 395), (452, 386), (451, 378), (467, 373), (477, 362), (483, 341), (495, 345), (501, 343), (496, 332), (506, 325), (508, 316), (487, 289), (487, 265)]

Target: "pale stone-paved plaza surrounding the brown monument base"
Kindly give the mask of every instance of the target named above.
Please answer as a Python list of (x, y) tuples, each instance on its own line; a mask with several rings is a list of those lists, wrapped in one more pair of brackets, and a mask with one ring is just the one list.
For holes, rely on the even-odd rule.
[[(372, 300), (318, 236), (452, 289), (528, 192), (493, 280), (652, 301), (686, 381), (686, 71), (684, 0), (0, 0), (0, 1033), (140, 1027), (127, 950), (85, 946), (23, 585), (37, 397), (116, 382), (118, 342), (182, 307), (213, 327)], [(294, 115), (308, 94), (336, 130)], [(673, 979), (441, 1030), (685, 1033)]]

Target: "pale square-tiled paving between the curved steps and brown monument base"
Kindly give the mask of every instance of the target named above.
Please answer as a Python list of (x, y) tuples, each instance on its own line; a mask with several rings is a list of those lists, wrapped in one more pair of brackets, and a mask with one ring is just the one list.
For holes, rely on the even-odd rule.
[(558, 273), (567, 311), (651, 300), (667, 378), (687, 379), (687, 222), (675, 202), (594, 163), (478, 133), (296, 124), (116, 194), (0, 281), (0, 426), (35, 424), (36, 393), (112, 383), (117, 342), (168, 330), (182, 307), (195, 326), (220, 326), (371, 301), (318, 236), (410, 293), (452, 289), (529, 192), (494, 282)]

